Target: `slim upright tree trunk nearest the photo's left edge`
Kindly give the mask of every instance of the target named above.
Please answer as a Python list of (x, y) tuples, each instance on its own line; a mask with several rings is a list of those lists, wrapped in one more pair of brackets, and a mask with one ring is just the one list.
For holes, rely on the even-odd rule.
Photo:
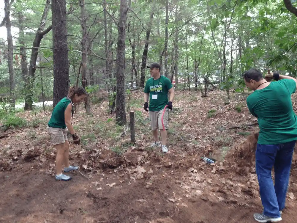
[(4, 14), (5, 14), (5, 26), (7, 31), (7, 59), (9, 70), (9, 82), (10, 82), (10, 111), (15, 111), (15, 70), (13, 68), (13, 45), (11, 35), (11, 23), (10, 23), (10, 9), (11, 5), (9, 0), (4, 1)]

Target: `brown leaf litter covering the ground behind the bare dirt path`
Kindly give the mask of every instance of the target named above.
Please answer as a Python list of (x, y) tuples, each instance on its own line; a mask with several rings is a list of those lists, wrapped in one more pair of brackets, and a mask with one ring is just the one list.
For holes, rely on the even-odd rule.
[[(246, 107), (247, 94), (230, 93), (228, 103), (225, 103), (224, 95), (225, 92), (215, 90), (201, 98), (199, 92), (176, 91), (173, 110), (169, 112), (168, 154), (162, 154), (160, 148), (149, 147), (153, 137), (148, 112), (142, 108), (143, 92), (131, 92), (131, 106), (126, 108), (135, 111), (134, 145), (130, 144), (129, 129), (117, 126), (115, 115), (108, 114), (106, 95), (97, 95), (103, 101), (91, 106), (90, 116), (86, 116), (83, 105), (77, 106), (73, 121), (81, 144), (70, 143), (69, 158), (71, 164), (78, 164), (80, 171), (90, 177), (90, 181), (84, 180), (91, 185), (80, 182), (81, 187), (93, 188), (104, 200), (108, 200), (110, 190), (124, 188), (125, 196), (139, 196), (135, 198), (137, 207), (148, 204), (151, 194), (156, 199), (163, 198), (165, 203), (162, 204), (162, 199), (158, 201), (161, 207), (170, 205), (176, 210), (183, 210), (189, 205), (188, 200), (195, 200), (195, 197), (203, 202), (254, 205), (258, 184), (253, 162), (259, 129)], [(295, 98), (293, 104), (296, 104)], [(208, 115), (210, 113), (215, 115)], [(34, 120), (29, 112), (20, 116)], [(38, 128), (23, 128), (18, 134), (1, 139), (0, 170), (22, 171), (25, 164), (31, 165), (31, 171), (55, 173), (56, 151), (46, 133), (49, 118), (50, 112), (37, 112), (37, 119), (43, 120)], [(203, 156), (215, 158), (217, 162), (206, 164), (201, 159)], [(295, 154), (293, 159), (297, 160)], [(138, 181), (141, 187), (129, 191), (129, 185)], [(168, 191), (173, 190), (174, 193), (169, 194)], [(143, 193), (150, 196), (141, 197)], [(126, 197), (121, 199), (127, 200)], [(150, 202), (154, 204), (154, 201)], [(114, 204), (113, 208), (116, 207)], [(117, 211), (121, 216), (122, 210)], [(151, 223), (180, 222), (163, 213), (160, 215)]]

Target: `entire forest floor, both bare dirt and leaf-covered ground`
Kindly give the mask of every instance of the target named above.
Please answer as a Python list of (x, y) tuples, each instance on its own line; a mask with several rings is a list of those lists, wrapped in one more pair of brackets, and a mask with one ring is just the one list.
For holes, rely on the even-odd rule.
[[(18, 113), (39, 124), (0, 139), (0, 222), (255, 222), (252, 214), (262, 211), (255, 164), (241, 166), (240, 157), (228, 154), (258, 127), (246, 95), (230, 94), (229, 103), (225, 95), (216, 90), (201, 98), (176, 91), (167, 154), (149, 148), (152, 135), (141, 91), (132, 92), (126, 105), (135, 111), (135, 145), (129, 130), (123, 135), (124, 128), (107, 113), (106, 100), (94, 104), (91, 115), (80, 105), (73, 118), (82, 143), (71, 143), (69, 155), (80, 172), (71, 172), (68, 182), (54, 178), (55, 150), (46, 133), (50, 112)], [(201, 156), (217, 162), (206, 164)], [(297, 222), (296, 179), (293, 164), (284, 223)]]

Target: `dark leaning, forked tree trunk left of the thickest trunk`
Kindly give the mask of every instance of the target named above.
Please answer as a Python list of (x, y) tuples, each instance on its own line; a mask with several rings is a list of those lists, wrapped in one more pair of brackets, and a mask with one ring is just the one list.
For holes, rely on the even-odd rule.
[[(56, 0), (57, 1), (57, 0)], [(58, 4), (59, 5), (59, 4)], [(50, 10), (50, 0), (46, 0), (45, 7), (43, 10), (43, 14), (40, 20), (39, 27), (37, 29), (32, 51), (31, 51), (31, 58), (30, 58), (30, 66), (29, 66), (29, 73), (26, 77), (26, 93), (25, 93), (25, 108), (24, 110), (32, 110), (32, 104), (33, 104), (33, 87), (34, 87), (34, 80), (35, 80), (35, 70), (36, 70), (36, 61), (38, 56), (38, 48), (40, 45), (40, 42), (42, 40), (42, 37), (50, 32), (52, 29), (52, 25), (49, 26), (47, 29), (44, 30), (45, 22), (48, 17), (48, 11)], [(68, 64), (67, 64), (68, 66)]]

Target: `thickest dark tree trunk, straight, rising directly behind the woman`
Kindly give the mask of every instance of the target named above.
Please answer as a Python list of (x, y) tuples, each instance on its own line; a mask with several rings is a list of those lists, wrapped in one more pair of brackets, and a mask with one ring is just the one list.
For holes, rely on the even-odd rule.
[(53, 107), (68, 94), (69, 67), (67, 46), (66, 0), (52, 1), (53, 25)]

